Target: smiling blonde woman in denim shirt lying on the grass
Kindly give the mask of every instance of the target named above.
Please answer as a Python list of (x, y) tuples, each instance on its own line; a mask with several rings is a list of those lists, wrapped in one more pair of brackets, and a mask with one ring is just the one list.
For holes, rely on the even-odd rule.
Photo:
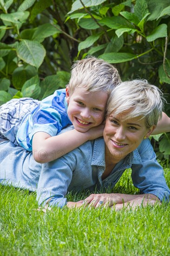
[[(87, 141), (59, 159), (39, 164), (32, 152), (2, 142), (1, 182), (37, 190), (39, 204), (63, 207), (90, 205), (121, 209), (128, 204), (169, 200), (170, 189), (148, 137), (161, 119), (162, 93), (147, 81), (128, 81), (112, 92), (105, 120), (104, 139)], [(12, 152), (13, 157), (10, 157)], [(8, 167), (7, 167), (8, 163)], [(68, 191), (113, 188), (126, 168), (141, 195), (92, 194), (84, 201), (67, 202)], [(37, 187), (37, 188), (36, 188)]]

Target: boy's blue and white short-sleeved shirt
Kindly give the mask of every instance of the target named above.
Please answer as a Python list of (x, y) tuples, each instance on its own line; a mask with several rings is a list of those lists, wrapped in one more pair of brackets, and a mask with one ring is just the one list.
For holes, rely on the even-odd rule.
[(32, 151), (32, 139), (35, 133), (57, 135), (63, 128), (72, 124), (67, 115), (67, 108), (65, 89), (56, 90), (54, 94), (40, 101), (39, 106), (23, 118), (17, 132), (17, 142), (21, 147)]

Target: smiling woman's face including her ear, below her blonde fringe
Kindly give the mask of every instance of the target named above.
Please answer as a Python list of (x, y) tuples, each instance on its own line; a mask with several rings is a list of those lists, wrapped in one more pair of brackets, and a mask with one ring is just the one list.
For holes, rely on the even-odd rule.
[(140, 120), (141, 117), (131, 116), (127, 119), (129, 113), (131, 112), (126, 111), (121, 114), (112, 112), (105, 121), (105, 153), (115, 163), (135, 150), (144, 139), (144, 136), (149, 137), (155, 128), (155, 126), (149, 129), (146, 128), (145, 118)]

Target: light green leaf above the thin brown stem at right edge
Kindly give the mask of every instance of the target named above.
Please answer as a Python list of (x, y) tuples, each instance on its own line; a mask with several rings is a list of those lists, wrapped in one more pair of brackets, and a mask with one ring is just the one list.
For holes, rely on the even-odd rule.
[(146, 40), (148, 42), (152, 42), (160, 37), (167, 37), (167, 25), (161, 24), (158, 27), (156, 27), (150, 35), (146, 37)]

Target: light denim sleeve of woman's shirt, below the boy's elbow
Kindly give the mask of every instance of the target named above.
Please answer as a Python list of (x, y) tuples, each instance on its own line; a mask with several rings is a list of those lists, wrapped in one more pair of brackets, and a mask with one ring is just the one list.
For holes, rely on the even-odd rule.
[(44, 206), (49, 200), (50, 206), (64, 207), (67, 203), (65, 195), (72, 181), (72, 172), (76, 168), (71, 154), (42, 164), (37, 189), (37, 201)]

